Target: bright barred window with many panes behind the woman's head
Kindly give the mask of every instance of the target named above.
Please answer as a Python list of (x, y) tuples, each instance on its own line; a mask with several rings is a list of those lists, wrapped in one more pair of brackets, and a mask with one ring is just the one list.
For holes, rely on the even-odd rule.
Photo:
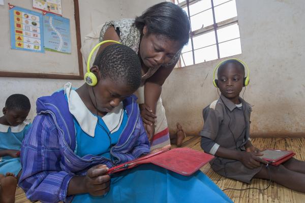
[(178, 66), (187, 66), (241, 53), (235, 0), (172, 0), (191, 22), (189, 44)]

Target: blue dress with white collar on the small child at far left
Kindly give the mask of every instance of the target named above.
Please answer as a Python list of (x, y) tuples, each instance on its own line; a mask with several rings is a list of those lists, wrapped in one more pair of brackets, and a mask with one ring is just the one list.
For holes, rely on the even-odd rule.
[[(0, 150), (21, 149), (22, 140), (31, 127), (29, 120), (23, 121), (18, 126), (8, 126), (0, 124)], [(21, 170), (20, 158), (12, 158), (11, 156), (4, 156), (0, 161), (0, 174), (5, 175), (10, 172), (18, 175)]]

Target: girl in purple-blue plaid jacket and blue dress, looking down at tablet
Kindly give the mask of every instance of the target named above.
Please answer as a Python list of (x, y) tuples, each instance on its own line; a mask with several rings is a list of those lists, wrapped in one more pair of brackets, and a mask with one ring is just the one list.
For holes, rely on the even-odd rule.
[(37, 100), (38, 115), (21, 153), (19, 186), (29, 199), (232, 202), (200, 171), (187, 177), (143, 164), (106, 174), (115, 164), (150, 152), (137, 98), (132, 95), (141, 83), (140, 66), (132, 49), (109, 45), (90, 69), (97, 77), (95, 86), (85, 83), (74, 90), (67, 83), (64, 91)]

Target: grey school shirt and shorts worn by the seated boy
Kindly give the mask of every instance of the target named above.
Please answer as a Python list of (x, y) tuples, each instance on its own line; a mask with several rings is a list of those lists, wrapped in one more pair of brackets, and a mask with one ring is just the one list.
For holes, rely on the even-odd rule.
[[(231, 150), (243, 151), (250, 139), (251, 105), (239, 97), (241, 106), (221, 95), (216, 101), (203, 109), (204, 125), (200, 131), (201, 147), (207, 153), (215, 154), (222, 146)], [(210, 161), (212, 169), (228, 178), (250, 183), (261, 167), (249, 169), (240, 161), (216, 157)]]

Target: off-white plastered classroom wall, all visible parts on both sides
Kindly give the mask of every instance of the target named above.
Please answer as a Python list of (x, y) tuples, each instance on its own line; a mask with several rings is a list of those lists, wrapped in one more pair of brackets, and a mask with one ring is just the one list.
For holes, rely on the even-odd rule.
[[(81, 0), (81, 38), (95, 26), (119, 18), (140, 15), (161, 1)], [(302, 0), (237, 0), (242, 54), (251, 69), (251, 82), (245, 99), (252, 105), (251, 133), (254, 136), (299, 136), (305, 132), (305, 4)], [(6, 30), (7, 31), (7, 30)], [(14, 59), (9, 56), (7, 60)], [(3, 59), (2, 59), (3, 60)], [(202, 127), (202, 109), (217, 99), (212, 86), (212, 69), (219, 60), (175, 69), (163, 87), (163, 102), (169, 128), (182, 123), (189, 133)], [(35, 115), (37, 97), (48, 95), (68, 80), (0, 78), (0, 105), (13, 93), (24, 93), (31, 99)], [(81, 80), (72, 81), (80, 86)]]

